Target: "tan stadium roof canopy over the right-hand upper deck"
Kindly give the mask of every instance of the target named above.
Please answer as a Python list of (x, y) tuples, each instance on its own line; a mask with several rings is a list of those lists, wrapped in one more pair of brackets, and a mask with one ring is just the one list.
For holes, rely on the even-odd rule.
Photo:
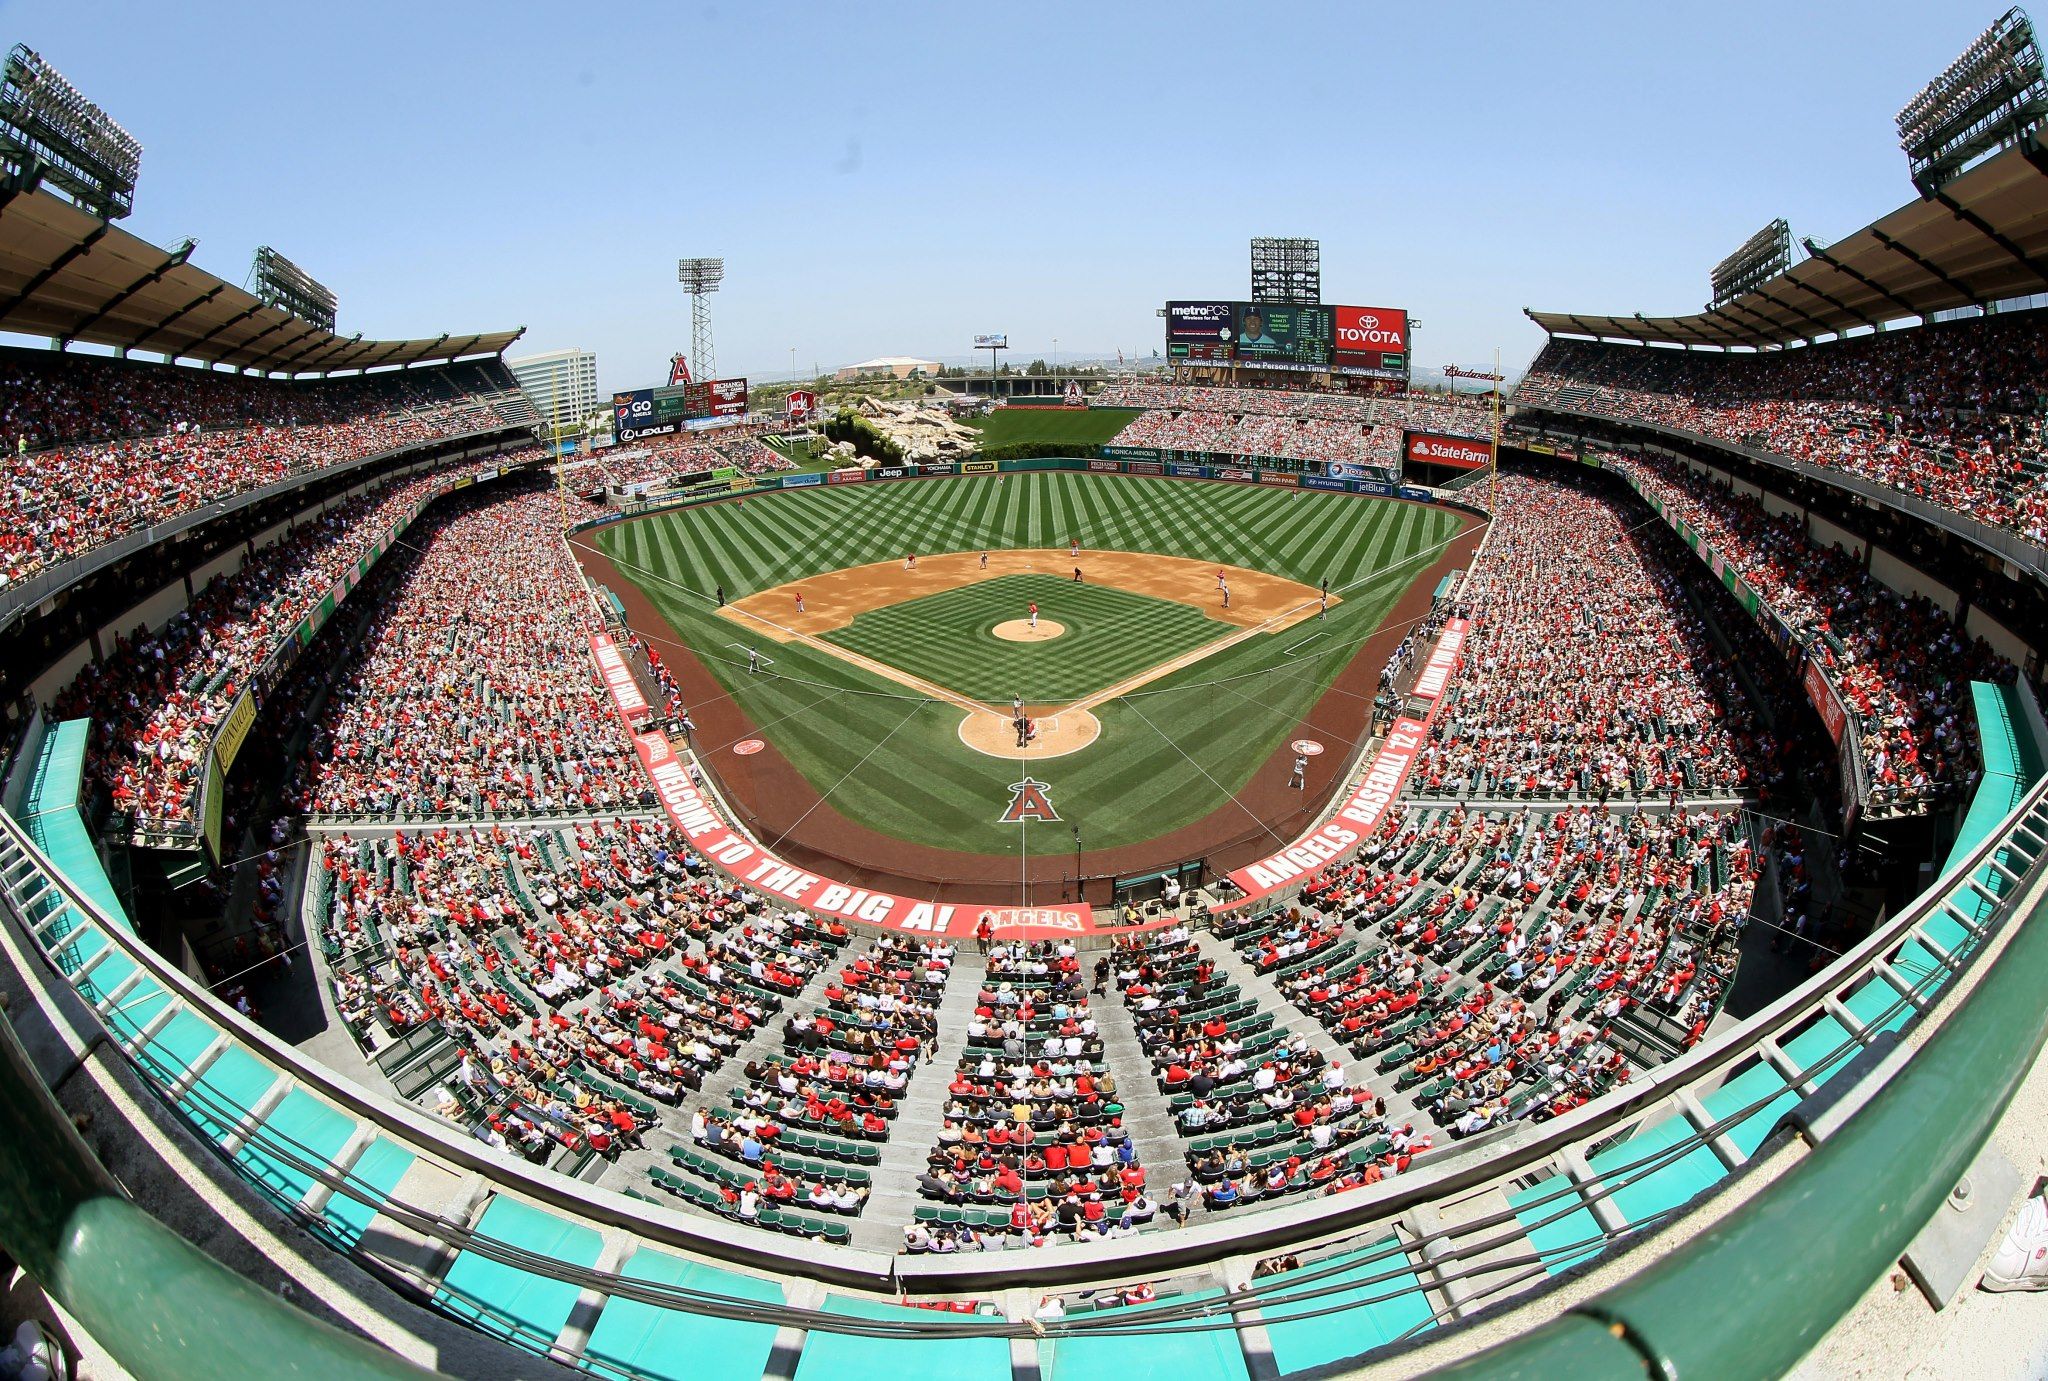
[(1718, 309), (1692, 316), (1528, 311), (1554, 336), (1686, 346), (1782, 346), (1950, 307), (2048, 293), (2048, 150), (1985, 160)]

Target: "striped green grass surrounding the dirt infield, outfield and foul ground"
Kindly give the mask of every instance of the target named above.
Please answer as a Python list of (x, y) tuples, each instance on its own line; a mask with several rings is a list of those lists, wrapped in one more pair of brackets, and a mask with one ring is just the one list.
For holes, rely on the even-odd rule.
[(1446, 510), (1393, 500), (1044, 471), (819, 486), (637, 518), (596, 539), (840, 811), (905, 840), (1014, 852), (1018, 828), (997, 815), (1018, 768), (967, 750), (956, 707), (913, 699), (803, 643), (776, 645), (774, 674), (748, 676), (713, 590), (737, 598), (907, 549), (1047, 547), (1069, 537), (1307, 586), (1327, 576), (1343, 596), (1327, 623), (1245, 639), (1110, 701), (1096, 709), (1096, 744), (1032, 764), (1090, 848), (1108, 848), (1192, 824), (1243, 787), (1456, 527)]

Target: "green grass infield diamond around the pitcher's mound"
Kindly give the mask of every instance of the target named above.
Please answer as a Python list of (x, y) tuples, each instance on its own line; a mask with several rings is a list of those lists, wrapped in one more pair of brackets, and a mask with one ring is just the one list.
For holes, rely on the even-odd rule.
[[(1022, 619), (1034, 600), (1042, 619), (1067, 629), (1057, 641), (1010, 643), (991, 633)], [(870, 609), (825, 641), (985, 705), (1012, 697), (1047, 705), (1094, 695), (1235, 631), (1235, 623), (1176, 600), (1059, 576), (997, 576)]]

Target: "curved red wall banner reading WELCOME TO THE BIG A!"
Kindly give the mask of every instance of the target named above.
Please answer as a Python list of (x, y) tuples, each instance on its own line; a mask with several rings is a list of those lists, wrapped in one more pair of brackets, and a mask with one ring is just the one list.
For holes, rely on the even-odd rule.
[(633, 750), (639, 754), (655, 795), (662, 797), (662, 809), (690, 840), (692, 850), (721, 873), (731, 875), (733, 881), (791, 906), (801, 906), (817, 916), (836, 916), (911, 934), (973, 934), (983, 914), (989, 916), (997, 934), (1016, 938), (1038, 940), (1061, 934), (1094, 934), (1096, 930), (1096, 912), (1085, 904), (1053, 908), (952, 906), (868, 891), (805, 873), (725, 824), (711, 795), (690, 781), (690, 768), (676, 756), (666, 734), (635, 734)]

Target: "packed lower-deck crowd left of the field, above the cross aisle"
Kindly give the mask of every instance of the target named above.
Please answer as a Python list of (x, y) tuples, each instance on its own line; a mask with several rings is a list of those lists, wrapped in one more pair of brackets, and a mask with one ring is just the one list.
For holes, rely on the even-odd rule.
[(287, 795), (317, 815), (588, 815), (651, 801), (592, 674), (561, 500), (438, 514), (375, 596)]

